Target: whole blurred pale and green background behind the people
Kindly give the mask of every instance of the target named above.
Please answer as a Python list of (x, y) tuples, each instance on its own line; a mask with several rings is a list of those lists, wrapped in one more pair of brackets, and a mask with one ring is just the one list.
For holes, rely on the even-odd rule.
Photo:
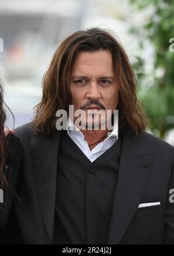
[(112, 30), (129, 56), (147, 131), (174, 145), (174, 0), (1, 0), (0, 77), (14, 127), (31, 121), (60, 42), (95, 26)]

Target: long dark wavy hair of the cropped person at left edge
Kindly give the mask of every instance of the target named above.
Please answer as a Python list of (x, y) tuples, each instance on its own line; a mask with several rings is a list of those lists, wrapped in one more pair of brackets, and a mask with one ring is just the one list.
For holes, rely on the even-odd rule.
[[(5, 110), (3, 109), (4, 105), (6, 106), (5, 102), (3, 102), (3, 87), (2, 81), (0, 80), (0, 187), (6, 188), (8, 190), (10, 178), (9, 174), (11, 170), (10, 158), (12, 157), (12, 155), (8, 146), (8, 140), (5, 138), (4, 134), (4, 125), (6, 121), (6, 114)], [(8, 106), (6, 107), (8, 108)], [(8, 175), (6, 174), (6, 167), (8, 167)]]

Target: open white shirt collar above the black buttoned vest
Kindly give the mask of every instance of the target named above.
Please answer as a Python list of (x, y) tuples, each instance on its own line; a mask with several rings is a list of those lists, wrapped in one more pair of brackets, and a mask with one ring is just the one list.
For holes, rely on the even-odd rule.
[[(73, 129), (69, 129), (72, 127)], [(97, 157), (101, 156), (107, 149), (114, 145), (118, 139), (118, 120), (114, 121), (113, 130), (110, 132), (110, 135), (107, 136), (105, 140), (97, 144), (92, 150), (89, 149), (88, 142), (84, 139), (84, 134), (75, 127), (73, 121), (70, 117), (67, 120), (67, 134), (75, 142), (75, 144), (82, 150), (88, 159), (93, 162)]]

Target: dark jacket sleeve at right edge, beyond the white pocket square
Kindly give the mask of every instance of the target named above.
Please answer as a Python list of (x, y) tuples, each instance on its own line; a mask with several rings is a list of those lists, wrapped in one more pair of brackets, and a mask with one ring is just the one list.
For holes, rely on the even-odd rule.
[(169, 182), (166, 201), (164, 244), (174, 244), (174, 168)]

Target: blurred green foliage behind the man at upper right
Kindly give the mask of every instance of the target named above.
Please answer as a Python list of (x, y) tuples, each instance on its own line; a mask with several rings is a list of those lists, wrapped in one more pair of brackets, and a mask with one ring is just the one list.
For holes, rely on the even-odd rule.
[[(129, 2), (139, 12), (147, 8), (153, 10), (150, 18), (145, 19), (142, 30), (131, 29), (131, 33), (141, 37), (140, 48), (144, 47), (144, 38), (154, 47), (152, 79), (148, 81), (148, 74), (144, 73), (141, 56), (137, 57), (134, 69), (137, 75), (137, 95), (144, 104), (149, 127), (153, 132), (158, 131), (160, 138), (164, 139), (166, 132), (174, 128), (174, 0)], [(170, 41), (170, 38), (173, 39)]]

